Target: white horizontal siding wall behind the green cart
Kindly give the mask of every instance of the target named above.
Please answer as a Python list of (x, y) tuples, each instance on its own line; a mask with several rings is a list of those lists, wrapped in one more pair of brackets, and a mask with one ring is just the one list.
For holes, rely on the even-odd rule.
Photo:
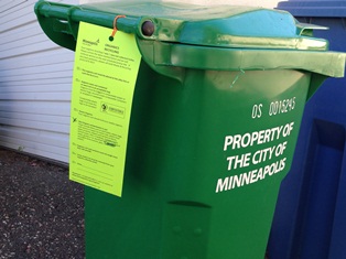
[(68, 162), (74, 52), (42, 32), (35, 2), (0, 0), (0, 145)]

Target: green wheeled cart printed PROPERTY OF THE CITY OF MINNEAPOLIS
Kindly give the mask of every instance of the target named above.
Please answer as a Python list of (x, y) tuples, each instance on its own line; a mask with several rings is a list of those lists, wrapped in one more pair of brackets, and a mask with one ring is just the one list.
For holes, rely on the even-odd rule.
[(79, 22), (136, 35), (142, 55), (122, 197), (85, 187), (86, 256), (262, 259), (302, 112), (345, 54), (290, 13), (252, 7), (40, 1), (52, 41)]

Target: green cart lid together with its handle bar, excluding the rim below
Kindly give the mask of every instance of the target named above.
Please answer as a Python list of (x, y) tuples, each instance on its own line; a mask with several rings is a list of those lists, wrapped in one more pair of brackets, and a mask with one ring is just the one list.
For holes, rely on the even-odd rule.
[[(156, 1), (112, 1), (88, 6), (40, 1), (35, 11), (41, 21), (40, 17), (68, 21), (65, 32), (69, 30), (75, 37), (76, 22), (112, 28), (117, 15), (126, 15), (117, 20), (118, 30), (136, 33), (145, 40), (221, 47), (328, 48), (326, 40), (311, 37), (313, 29), (326, 28), (301, 24), (289, 12), (271, 9)], [(58, 22), (55, 21), (54, 28), (66, 26)]]

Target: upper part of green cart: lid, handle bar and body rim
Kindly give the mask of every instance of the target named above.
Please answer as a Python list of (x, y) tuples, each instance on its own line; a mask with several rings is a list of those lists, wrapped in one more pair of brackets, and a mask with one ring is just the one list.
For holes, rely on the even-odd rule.
[(346, 55), (328, 52), (326, 40), (312, 36), (313, 30), (326, 28), (299, 23), (286, 11), (128, 0), (88, 6), (40, 1), (35, 12), (46, 35), (69, 50), (76, 47), (79, 22), (133, 33), (143, 61), (180, 80), (186, 68), (302, 69), (314, 73), (313, 82), (344, 76)]

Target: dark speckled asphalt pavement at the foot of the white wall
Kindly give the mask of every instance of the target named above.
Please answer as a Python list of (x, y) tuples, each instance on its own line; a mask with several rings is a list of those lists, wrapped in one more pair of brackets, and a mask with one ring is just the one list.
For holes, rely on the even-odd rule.
[(85, 258), (84, 194), (67, 166), (0, 148), (0, 259)]

